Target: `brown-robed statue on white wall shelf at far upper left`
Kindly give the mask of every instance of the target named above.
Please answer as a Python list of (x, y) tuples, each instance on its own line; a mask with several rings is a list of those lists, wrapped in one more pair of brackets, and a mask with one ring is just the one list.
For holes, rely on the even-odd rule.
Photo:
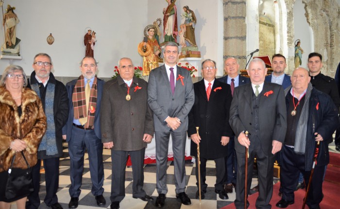
[(17, 38), (17, 24), (19, 19), (14, 13), (15, 7), (7, 5), (6, 13), (3, 15), (3, 27), (6, 26), (5, 43), (1, 46), (3, 55), (19, 56), (20, 39)]

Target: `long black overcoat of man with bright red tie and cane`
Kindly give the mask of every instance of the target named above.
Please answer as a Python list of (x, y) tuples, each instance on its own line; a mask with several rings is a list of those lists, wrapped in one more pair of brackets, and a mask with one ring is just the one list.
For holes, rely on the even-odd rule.
[[(188, 115), (188, 135), (196, 134), (200, 127), (200, 156), (216, 159), (227, 156), (228, 147), (221, 145), (221, 137), (232, 137), (229, 125), (229, 110), (233, 99), (230, 86), (215, 79), (209, 101), (204, 80), (194, 84), (195, 103)], [(197, 157), (197, 144), (191, 141), (190, 155)]]

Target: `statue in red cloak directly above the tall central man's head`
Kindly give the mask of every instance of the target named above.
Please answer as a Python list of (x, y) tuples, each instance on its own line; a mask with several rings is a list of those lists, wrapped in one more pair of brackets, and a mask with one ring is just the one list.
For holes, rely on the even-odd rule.
[(176, 0), (166, 0), (168, 7), (163, 9), (163, 37), (164, 42), (177, 43), (177, 8), (175, 5)]

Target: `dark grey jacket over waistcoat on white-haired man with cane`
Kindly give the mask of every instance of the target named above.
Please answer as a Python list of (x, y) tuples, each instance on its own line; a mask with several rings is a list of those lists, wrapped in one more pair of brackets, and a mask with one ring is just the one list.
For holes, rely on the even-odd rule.
[[(272, 90), (272, 94), (265, 96), (266, 92)], [(233, 101), (230, 107), (229, 123), (236, 137), (243, 132), (249, 132), (249, 139), (255, 136), (252, 126), (253, 115), (253, 89), (251, 83), (235, 88)], [(287, 110), (285, 106), (285, 94), (283, 88), (278, 84), (264, 82), (263, 90), (258, 95), (259, 107), (259, 139), (264, 153), (272, 152), (272, 140), (284, 142), (287, 130)], [(249, 150), (254, 149), (250, 144)], [(244, 146), (235, 140), (235, 149), (244, 153)]]

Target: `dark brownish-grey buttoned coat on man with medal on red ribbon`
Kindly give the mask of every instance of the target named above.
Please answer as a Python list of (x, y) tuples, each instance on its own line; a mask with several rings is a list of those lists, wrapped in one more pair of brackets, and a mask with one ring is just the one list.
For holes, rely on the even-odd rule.
[[(135, 87), (141, 89), (136, 89)], [(153, 135), (153, 112), (148, 105), (148, 82), (133, 78), (127, 101), (127, 85), (118, 76), (104, 85), (101, 108), (102, 143), (113, 142), (113, 150), (136, 151), (147, 146), (143, 135)]]

